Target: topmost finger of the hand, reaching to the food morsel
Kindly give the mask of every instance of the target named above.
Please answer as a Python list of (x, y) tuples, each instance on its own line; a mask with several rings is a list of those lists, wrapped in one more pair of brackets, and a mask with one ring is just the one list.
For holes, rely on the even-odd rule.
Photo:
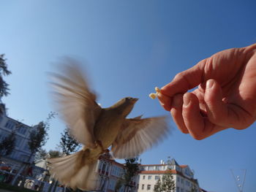
[(171, 82), (161, 88), (161, 93), (172, 97), (178, 93), (186, 93), (189, 89), (195, 88), (203, 80), (203, 66), (206, 65), (206, 60), (204, 59), (195, 66), (192, 66), (192, 68), (176, 74)]

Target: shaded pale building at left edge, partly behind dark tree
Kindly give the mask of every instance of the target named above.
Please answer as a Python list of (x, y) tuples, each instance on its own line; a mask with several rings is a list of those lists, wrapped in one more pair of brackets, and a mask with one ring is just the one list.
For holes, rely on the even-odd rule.
[[(15, 133), (15, 148), (10, 155), (1, 154), (1, 161), (7, 162), (12, 167), (18, 167), (23, 162), (28, 163), (31, 152), (29, 150), (29, 134), (34, 127), (20, 123), (18, 120), (7, 117), (3, 114), (0, 116), (0, 142), (12, 131)], [(0, 151), (1, 153), (1, 151)], [(34, 161), (34, 156), (31, 157)]]

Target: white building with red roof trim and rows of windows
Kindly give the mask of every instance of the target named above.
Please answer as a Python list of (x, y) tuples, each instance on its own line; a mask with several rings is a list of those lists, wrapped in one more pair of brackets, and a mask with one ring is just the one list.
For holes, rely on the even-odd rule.
[(167, 170), (173, 174), (176, 187), (173, 192), (190, 192), (192, 188), (195, 188), (195, 191), (200, 191), (198, 182), (189, 166), (178, 165), (174, 158), (167, 164), (161, 161), (161, 164), (141, 165), (140, 170), (138, 192), (153, 192), (157, 180), (162, 178)]

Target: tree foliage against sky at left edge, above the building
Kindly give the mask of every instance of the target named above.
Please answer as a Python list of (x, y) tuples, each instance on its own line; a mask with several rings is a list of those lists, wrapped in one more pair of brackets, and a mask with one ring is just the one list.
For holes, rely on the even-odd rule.
[(0, 55), (0, 98), (2, 96), (7, 96), (9, 94), (9, 88), (7, 82), (4, 81), (3, 75), (9, 75), (10, 72), (7, 69), (6, 59), (4, 58), (4, 54)]

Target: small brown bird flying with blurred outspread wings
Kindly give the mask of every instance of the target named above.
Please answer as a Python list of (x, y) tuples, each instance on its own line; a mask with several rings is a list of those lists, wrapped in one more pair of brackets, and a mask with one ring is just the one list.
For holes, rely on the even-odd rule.
[(115, 158), (132, 158), (156, 145), (170, 130), (167, 117), (127, 118), (138, 99), (125, 97), (102, 108), (89, 86), (81, 64), (71, 58), (53, 77), (53, 96), (61, 118), (83, 149), (48, 159), (50, 173), (71, 188), (97, 189), (97, 160), (111, 147)]

